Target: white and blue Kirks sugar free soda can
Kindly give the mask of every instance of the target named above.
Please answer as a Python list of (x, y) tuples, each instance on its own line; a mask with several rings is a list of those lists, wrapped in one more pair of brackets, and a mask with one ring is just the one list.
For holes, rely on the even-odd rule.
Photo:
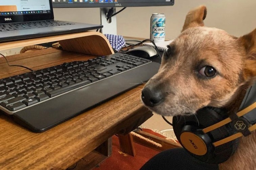
[(165, 15), (153, 13), (150, 18), (150, 39), (154, 42), (165, 40)]

